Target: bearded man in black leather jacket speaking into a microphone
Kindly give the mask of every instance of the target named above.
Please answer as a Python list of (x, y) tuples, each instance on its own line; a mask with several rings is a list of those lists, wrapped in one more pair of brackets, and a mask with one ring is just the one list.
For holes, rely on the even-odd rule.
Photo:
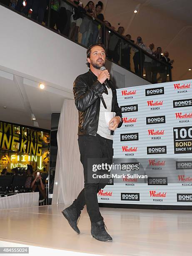
[[(122, 125), (122, 113), (110, 74), (107, 69), (100, 70), (105, 66), (105, 58), (105, 47), (102, 44), (90, 46), (87, 49), (87, 65), (90, 69), (87, 73), (79, 75), (74, 82), (75, 105), (79, 111), (78, 143), (85, 185), (77, 199), (63, 210), (62, 214), (71, 227), (80, 233), (77, 220), (84, 205), (87, 205), (92, 236), (100, 241), (112, 241), (105, 230), (97, 200), (97, 192), (105, 187), (106, 179), (91, 179), (94, 173), (92, 165), (89, 164), (90, 159), (94, 159), (94, 164), (112, 164), (112, 135), (115, 129)], [(105, 112), (115, 112), (115, 117), (108, 125), (105, 122)]]

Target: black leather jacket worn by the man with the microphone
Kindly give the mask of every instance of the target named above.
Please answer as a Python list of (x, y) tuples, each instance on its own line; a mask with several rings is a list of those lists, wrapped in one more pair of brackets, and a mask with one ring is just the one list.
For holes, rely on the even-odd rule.
[[(112, 108), (111, 112), (115, 112), (115, 116), (122, 118), (121, 109), (117, 103), (117, 93), (115, 87), (110, 82), (112, 90)], [(75, 105), (79, 110), (79, 126), (78, 135), (94, 135), (96, 136), (99, 113), (100, 113), (100, 96), (103, 94), (105, 86), (98, 80), (97, 76), (89, 69), (85, 74), (79, 75), (73, 84), (73, 94), (75, 97)], [(120, 128), (122, 122), (117, 128)], [(113, 135), (114, 131), (111, 131)]]

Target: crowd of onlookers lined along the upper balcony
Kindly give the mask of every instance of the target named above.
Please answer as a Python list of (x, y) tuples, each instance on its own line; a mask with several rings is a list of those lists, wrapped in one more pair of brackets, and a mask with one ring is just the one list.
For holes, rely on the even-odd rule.
[[(40, 23), (43, 21), (46, 23), (49, 12), (49, 0), (27, 0), (27, 2), (23, 0), (0, 0), (0, 2), (4, 4), (6, 2), (11, 8), (25, 15), (31, 12), (32, 19)], [(165, 51), (164, 55), (162, 54), (161, 47), (157, 47), (157, 50), (154, 51), (154, 44), (150, 44), (147, 47), (140, 36), (137, 37), (136, 41), (132, 40), (130, 34), (124, 36), (125, 29), (122, 26), (115, 31), (115, 27), (105, 20), (104, 15), (101, 13), (103, 9), (101, 1), (98, 1), (96, 5), (89, 1), (85, 7), (80, 0), (71, 0), (70, 2), (75, 4), (75, 6), (70, 5), (65, 0), (51, 0), (50, 28), (71, 38), (72, 41), (88, 47), (91, 44), (102, 42), (103, 25), (97, 20), (102, 21), (107, 26), (105, 42), (109, 59), (134, 71), (139, 76), (145, 75), (145, 78), (150, 82), (158, 82), (157, 74), (160, 75), (161, 82), (167, 81), (167, 76), (173, 63), (173, 60), (169, 59), (167, 51)], [(85, 13), (88, 15), (85, 15)], [(135, 44), (139, 48), (135, 47)], [(140, 51), (140, 49), (144, 51)], [(149, 55), (145, 54), (145, 52)], [(131, 67), (131, 57), (134, 70)]]

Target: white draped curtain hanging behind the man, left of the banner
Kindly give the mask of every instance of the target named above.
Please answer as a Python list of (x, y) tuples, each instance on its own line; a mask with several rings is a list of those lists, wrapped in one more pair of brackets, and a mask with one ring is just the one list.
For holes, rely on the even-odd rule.
[(64, 100), (57, 131), (58, 151), (52, 204), (70, 205), (84, 187), (77, 130), (75, 101)]

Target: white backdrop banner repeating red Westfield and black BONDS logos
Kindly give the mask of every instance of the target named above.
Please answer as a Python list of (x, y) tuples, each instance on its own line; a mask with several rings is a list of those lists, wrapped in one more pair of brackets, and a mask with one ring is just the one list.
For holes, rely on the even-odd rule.
[(117, 99), (114, 163), (128, 167), (114, 172), (98, 202), (192, 205), (192, 80), (118, 89)]

